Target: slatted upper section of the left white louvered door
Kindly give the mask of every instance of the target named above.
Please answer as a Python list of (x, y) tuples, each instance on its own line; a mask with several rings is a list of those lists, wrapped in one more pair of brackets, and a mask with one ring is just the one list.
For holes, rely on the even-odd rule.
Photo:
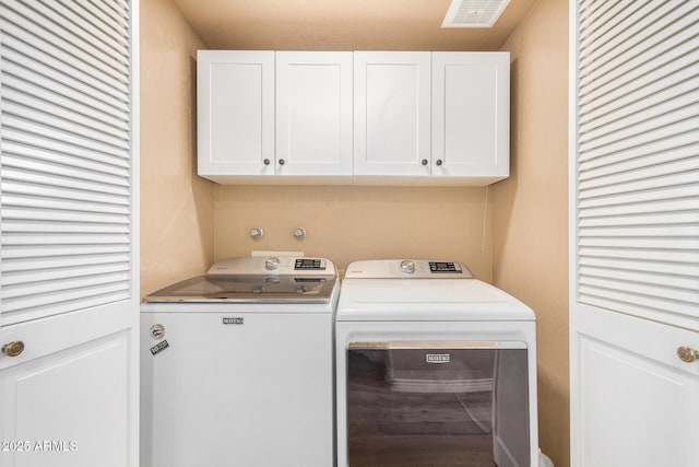
[(0, 324), (129, 300), (131, 7), (0, 8)]

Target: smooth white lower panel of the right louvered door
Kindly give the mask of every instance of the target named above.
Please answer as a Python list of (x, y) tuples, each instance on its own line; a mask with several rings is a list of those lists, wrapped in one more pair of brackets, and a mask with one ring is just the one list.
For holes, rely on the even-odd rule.
[(699, 465), (699, 365), (676, 355), (698, 332), (584, 307), (571, 342), (573, 465)]

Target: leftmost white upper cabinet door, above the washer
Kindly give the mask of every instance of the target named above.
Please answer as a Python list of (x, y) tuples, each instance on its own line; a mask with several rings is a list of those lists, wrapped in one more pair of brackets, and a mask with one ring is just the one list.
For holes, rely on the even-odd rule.
[(274, 174), (274, 52), (197, 55), (199, 175)]

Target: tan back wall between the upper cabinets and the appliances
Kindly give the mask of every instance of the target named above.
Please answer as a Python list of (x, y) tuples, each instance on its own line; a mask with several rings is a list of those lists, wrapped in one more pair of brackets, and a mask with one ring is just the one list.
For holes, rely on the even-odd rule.
[[(215, 198), (215, 259), (303, 250), (344, 269), (357, 259), (441, 258), (491, 278), (485, 188), (220, 186)], [(264, 237), (253, 241), (251, 227)], [(295, 227), (306, 229), (305, 240)]]

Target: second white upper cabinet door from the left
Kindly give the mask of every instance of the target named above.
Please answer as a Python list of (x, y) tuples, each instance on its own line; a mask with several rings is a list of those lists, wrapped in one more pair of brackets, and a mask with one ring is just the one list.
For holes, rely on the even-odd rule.
[(276, 52), (276, 174), (352, 175), (352, 52)]

